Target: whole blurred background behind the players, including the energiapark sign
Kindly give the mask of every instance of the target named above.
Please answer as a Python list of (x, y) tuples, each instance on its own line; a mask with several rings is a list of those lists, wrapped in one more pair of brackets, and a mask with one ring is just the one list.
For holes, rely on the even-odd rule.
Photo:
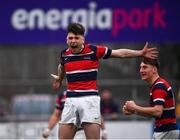
[[(179, 4), (178, 0), (2, 0), (0, 139), (41, 138), (56, 95), (66, 89), (64, 81), (60, 91), (53, 91), (50, 74), (57, 72), (60, 51), (67, 47), (66, 27), (71, 22), (85, 26), (87, 43), (111, 49), (142, 49), (148, 41), (150, 47), (157, 47), (160, 75), (174, 89), (179, 122)], [(126, 100), (143, 106), (149, 103), (149, 87), (139, 75), (140, 60), (101, 60), (100, 94), (108, 90), (117, 108), (116, 112), (104, 114), (110, 138), (151, 138), (151, 119), (124, 116), (121, 110)], [(115, 117), (111, 117), (113, 113)], [(137, 124), (139, 131), (133, 127)], [(51, 138), (57, 138), (56, 130)]]

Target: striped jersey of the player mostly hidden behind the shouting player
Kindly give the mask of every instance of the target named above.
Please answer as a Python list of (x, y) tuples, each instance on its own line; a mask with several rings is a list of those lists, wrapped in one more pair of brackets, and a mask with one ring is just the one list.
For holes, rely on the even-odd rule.
[(66, 91), (58, 94), (58, 96), (56, 97), (56, 109), (59, 109), (62, 111), (64, 108), (65, 100), (66, 100)]

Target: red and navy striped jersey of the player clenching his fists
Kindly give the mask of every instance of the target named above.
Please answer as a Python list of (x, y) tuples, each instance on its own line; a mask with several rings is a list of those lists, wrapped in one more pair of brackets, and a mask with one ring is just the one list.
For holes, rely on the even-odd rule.
[(175, 99), (169, 83), (159, 77), (150, 90), (150, 106), (163, 105), (163, 113), (155, 119), (155, 132), (176, 130)]

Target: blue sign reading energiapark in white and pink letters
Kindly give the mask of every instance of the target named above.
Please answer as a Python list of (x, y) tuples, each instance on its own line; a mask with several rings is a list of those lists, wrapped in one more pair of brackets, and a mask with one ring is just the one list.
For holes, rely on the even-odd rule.
[(0, 44), (66, 43), (71, 22), (87, 42), (180, 43), (179, 0), (2, 0)]

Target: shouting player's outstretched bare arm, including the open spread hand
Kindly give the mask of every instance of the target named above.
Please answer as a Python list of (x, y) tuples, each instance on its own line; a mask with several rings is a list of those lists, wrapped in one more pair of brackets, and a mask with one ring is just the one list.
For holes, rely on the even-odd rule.
[(112, 50), (111, 57), (147, 57), (151, 59), (155, 59), (158, 56), (157, 48), (148, 48), (148, 43), (146, 42), (144, 48), (142, 50), (131, 50), (131, 49), (117, 49)]

